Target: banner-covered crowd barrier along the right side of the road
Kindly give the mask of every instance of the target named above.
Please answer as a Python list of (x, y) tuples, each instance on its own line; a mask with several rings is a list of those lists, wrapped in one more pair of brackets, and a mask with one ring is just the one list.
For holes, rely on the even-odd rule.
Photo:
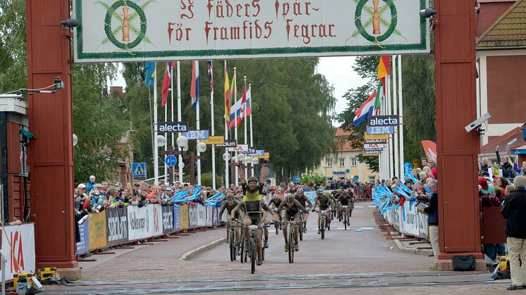
[(403, 206), (393, 208), (384, 213), (385, 220), (402, 234), (427, 239), (427, 215), (417, 211), (413, 202), (405, 201)]

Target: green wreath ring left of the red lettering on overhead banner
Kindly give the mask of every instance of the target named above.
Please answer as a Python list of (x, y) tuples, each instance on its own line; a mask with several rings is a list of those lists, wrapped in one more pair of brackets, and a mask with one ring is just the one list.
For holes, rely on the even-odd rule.
[[(114, 15), (114, 12), (117, 10), (117, 8), (121, 6), (128, 6), (130, 8), (133, 8), (135, 12), (137, 12), (137, 15), (139, 15), (140, 18), (140, 31), (139, 35), (133, 42), (130, 43), (123, 43), (119, 42), (117, 38), (115, 37), (114, 33), (111, 32), (111, 18)], [(108, 12), (106, 13), (106, 18), (104, 18), (104, 32), (106, 32), (106, 37), (108, 37), (109, 41), (117, 46), (120, 49), (124, 50), (130, 50), (133, 49), (135, 46), (139, 45), (140, 42), (142, 42), (142, 39), (145, 38), (146, 35), (146, 15), (145, 12), (142, 11), (142, 8), (135, 4), (132, 1), (129, 0), (119, 0), (116, 1), (113, 5), (111, 5), (108, 9)]]

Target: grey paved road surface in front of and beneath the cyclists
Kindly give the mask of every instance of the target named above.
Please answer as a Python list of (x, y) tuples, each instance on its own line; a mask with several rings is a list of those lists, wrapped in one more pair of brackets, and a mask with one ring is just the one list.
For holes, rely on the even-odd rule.
[(487, 272), (432, 271), (433, 257), (391, 249), (395, 244), (374, 224), (373, 210), (371, 203), (357, 203), (348, 230), (333, 220), (324, 240), (317, 234), (317, 214), (311, 213), (292, 264), (283, 251), (283, 234), (270, 227), (270, 246), (254, 275), (250, 263), (230, 261), (226, 243), (181, 260), (188, 251), (225, 237), (221, 228), (86, 265), (84, 280), (68, 287), (45, 286), (46, 293), (494, 294), (510, 284), (492, 281)]

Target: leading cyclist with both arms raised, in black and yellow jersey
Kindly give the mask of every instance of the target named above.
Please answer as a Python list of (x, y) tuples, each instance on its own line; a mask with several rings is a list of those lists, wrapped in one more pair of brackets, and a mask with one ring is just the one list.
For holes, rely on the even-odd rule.
[[(236, 208), (233, 208), (231, 216), (235, 215), (241, 206), (245, 207), (245, 249), (248, 249), (248, 226), (249, 225), (261, 225), (262, 221), (262, 201), (263, 201), (263, 187), (265, 183), (265, 175), (269, 170), (269, 160), (264, 159), (263, 170), (261, 172), (261, 177), (259, 178), (259, 183), (257, 182), (256, 177), (250, 177), (248, 182), (245, 178), (245, 172), (241, 169), (241, 165), (238, 163), (238, 175), (241, 180), (241, 187), (243, 188), (243, 201), (238, 203)], [(261, 234), (256, 234), (256, 249), (257, 249), (257, 265), (262, 265), (262, 245), (261, 245)]]

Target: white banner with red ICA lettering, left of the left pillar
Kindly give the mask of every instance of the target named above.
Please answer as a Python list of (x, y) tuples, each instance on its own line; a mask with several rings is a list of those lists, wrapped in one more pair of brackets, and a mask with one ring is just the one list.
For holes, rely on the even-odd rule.
[(35, 225), (27, 223), (5, 229), (1, 250), (7, 260), (6, 280), (13, 280), (13, 275), (18, 272), (35, 272)]

